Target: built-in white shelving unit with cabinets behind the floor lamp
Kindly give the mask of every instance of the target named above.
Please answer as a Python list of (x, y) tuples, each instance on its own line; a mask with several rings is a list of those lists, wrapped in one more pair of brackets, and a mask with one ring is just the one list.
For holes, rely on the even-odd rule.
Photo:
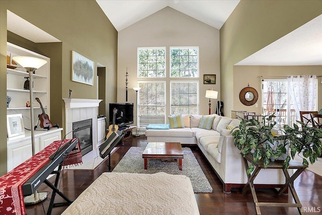
[[(31, 56), (42, 58), (47, 61), (45, 65), (38, 68), (33, 74), (33, 95), (41, 101), (45, 113), (50, 118), (50, 58), (35, 53), (28, 49), (19, 47), (12, 43), (7, 43), (7, 55), (10, 56), (10, 64), (14, 56)], [(29, 90), (24, 89), (25, 77), (29, 77), (26, 69), (22, 67), (7, 68), (7, 96), (11, 97), (11, 102), (7, 108), (7, 115), (21, 113), (25, 127), (25, 134), (7, 138), (8, 145), (8, 171), (12, 170), (22, 162), (32, 156), (31, 147), (31, 127), (30, 127), (30, 107), (26, 107), (26, 102), (30, 101)], [(32, 87), (32, 83), (29, 84)], [(40, 104), (34, 100), (34, 121), (38, 121), (38, 114), (42, 113)], [(50, 118), (53, 124), (55, 120)], [(35, 153), (39, 152), (51, 142), (61, 139), (62, 128), (47, 129), (39, 128), (35, 131)]]

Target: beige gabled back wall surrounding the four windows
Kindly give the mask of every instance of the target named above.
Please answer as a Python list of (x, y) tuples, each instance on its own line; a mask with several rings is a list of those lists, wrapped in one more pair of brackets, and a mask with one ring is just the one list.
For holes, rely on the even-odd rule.
[[(125, 102), (125, 74), (128, 68), (128, 102), (135, 103), (137, 81), (137, 48), (166, 47), (167, 48), (167, 81), (169, 78), (169, 47), (170, 46), (199, 46), (199, 78), (184, 80), (199, 80), (200, 114), (208, 114), (208, 99), (206, 90), (220, 90), (219, 68), (219, 30), (191, 18), (172, 8), (164, 8), (149, 17), (118, 32), (118, 63), (117, 63), (117, 101)], [(203, 75), (215, 74), (215, 85), (204, 85)], [(158, 80), (149, 78), (148, 80)], [(167, 82), (167, 115), (170, 114), (170, 85)], [(220, 92), (218, 100), (220, 99)], [(211, 101), (211, 112), (215, 113), (216, 101)], [(229, 113), (230, 114), (230, 113)]]

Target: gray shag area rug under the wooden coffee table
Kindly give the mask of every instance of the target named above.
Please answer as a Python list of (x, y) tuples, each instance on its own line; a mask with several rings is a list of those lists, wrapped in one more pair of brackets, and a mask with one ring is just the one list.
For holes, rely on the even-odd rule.
[(148, 159), (147, 170), (144, 169), (142, 158), (144, 148), (131, 147), (112, 172), (146, 173), (165, 172), (173, 175), (185, 175), (190, 178), (195, 193), (211, 193), (212, 187), (202, 171), (191, 149), (183, 148), (184, 159), (182, 171), (177, 162), (165, 162), (161, 159)]

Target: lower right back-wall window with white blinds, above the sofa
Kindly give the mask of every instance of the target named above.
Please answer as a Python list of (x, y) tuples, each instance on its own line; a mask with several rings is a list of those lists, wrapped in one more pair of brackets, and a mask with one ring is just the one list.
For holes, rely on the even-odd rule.
[(198, 81), (171, 81), (170, 96), (171, 114), (199, 113)]

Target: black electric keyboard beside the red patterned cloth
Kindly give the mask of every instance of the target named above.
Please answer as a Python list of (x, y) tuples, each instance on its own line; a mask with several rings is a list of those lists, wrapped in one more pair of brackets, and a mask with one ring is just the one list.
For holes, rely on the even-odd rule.
[(61, 164), (68, 153), (76, 146), (78, 139), (70, 139), (66, 144), (50, 156), (50, 161), (39, 169), (28, 181), (22, 185), (24, 196), (31, 195), (44, 182), (48, 175), (52, 174), (54, 169)]

